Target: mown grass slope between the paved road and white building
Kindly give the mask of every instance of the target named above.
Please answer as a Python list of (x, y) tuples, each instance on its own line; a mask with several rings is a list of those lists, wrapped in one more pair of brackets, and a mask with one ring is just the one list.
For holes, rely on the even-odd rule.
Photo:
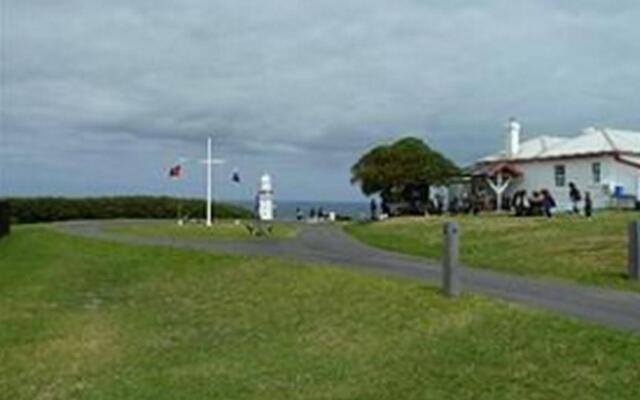
[(490, 214), (398, 218), (345, 229), (373, 246), (440, 258), (442, 226), (451, 220), (460, 223), (461, 258), (469, 266), (640, 291), (640, 284), (627, 280), (628, 225), (640, 220), (638, 212), (607, 211), (592, 219)]

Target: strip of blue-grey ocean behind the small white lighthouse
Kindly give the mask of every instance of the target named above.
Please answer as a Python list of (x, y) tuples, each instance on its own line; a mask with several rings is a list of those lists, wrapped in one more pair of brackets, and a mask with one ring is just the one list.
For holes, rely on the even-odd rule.
[[(233, 202), (249, 210), (253, 210), (253, 202)], [(344, 201), (276, 201), (276, 219), (292, 221), (296, 219), (296, 209), (300, 208), (305, 216), (309, 216), (311, 209), (316, 212), (322, 208), (325, 213), (335, 212), (337, 215), (349, 217), (354, 220), (367, 219), (369, 216), (369, 203), (344, 202)]]

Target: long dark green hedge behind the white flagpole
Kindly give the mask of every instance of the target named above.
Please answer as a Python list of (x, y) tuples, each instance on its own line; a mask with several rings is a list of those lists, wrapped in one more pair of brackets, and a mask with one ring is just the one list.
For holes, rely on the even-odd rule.
[[(15, 223), (80, 219), (205, 217), (205, 201), (155, 196), (9, 198)], [(216, 218), (249, 218), (251, 212), (231, 204), (215, 205)]]

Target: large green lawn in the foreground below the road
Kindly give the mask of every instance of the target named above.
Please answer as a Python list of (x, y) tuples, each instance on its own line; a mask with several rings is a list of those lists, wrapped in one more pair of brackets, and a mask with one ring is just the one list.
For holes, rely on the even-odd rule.
[(419, 283), (17, 227), (2, 399), (638, 399), (640, 336)]

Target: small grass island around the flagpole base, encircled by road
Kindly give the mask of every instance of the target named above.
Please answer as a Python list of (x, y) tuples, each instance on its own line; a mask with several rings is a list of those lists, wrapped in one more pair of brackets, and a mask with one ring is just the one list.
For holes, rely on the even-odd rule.
[[(212, 227), (207, 228), (205, 225), (187, 224), (179, 226), (175, 221), (153, 221), (143, 224), (132, 223), (114, 223), (107, 225), (107, 232), (122, 233), (134, 236), (171, 236), (184, 238), (216, 238), (216, 239), (251, 239), (256, 238), (252, 235), (245, 225), (256, 225), (252, 221), (218, 221)], [(276, 222), (265, 224), (271, 226), (272, 231), (268, 237), (274, 239), (287, 239), (295, 237), (298, 233), (298, 227), (293, 223)]]

